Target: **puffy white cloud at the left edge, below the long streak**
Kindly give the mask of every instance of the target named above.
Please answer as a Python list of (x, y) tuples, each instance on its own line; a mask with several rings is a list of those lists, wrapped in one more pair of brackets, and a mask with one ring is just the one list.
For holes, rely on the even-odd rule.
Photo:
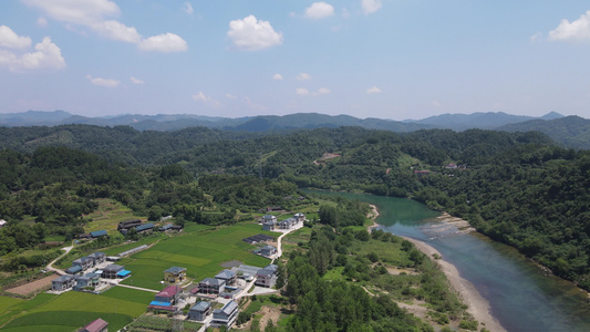
[(65, 60), (60, 48), (45, 37), (34, 46), (34, 52), (19, 54), (0, 49), (0, 68), (8, 68), (11, 72), (60, 70), (65, 68)]

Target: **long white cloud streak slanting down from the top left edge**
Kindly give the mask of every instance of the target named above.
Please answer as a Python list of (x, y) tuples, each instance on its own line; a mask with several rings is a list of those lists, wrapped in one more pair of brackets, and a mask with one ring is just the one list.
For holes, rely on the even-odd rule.
[(118, 17), (121, 9), (110, 0), (22, 0), (43, 11), (49, 18), (70, 24), (85, 27), (107, 39), (134, 43), (141, 50), (154, 52), (186, 51), (186, 41), (174, 33), (164, 33), (144, 39), (137, 29), (107, 18)]

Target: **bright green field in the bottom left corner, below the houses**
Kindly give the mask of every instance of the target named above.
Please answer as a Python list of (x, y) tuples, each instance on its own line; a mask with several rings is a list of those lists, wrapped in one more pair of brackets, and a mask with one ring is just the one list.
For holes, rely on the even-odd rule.
[[(40, 301), (33, 299), (20, 304), (29, 304), (25, 305), (29, 307), (29, 310), (4, 325), (2, 331), (70, 332), (97, 318), (107, 321), (108, 329), (116, 331), (128, 324), (147, 308), (147, 303), (75, 291), (65, 292), (58, 297), (51, 295), (51, 298), (41, 297)], [(33, 304), (37, 305), (32, 307)], [(19, 312), (27, 310), (18, 307), (20, 305), (15, 305), (11, 310)]]

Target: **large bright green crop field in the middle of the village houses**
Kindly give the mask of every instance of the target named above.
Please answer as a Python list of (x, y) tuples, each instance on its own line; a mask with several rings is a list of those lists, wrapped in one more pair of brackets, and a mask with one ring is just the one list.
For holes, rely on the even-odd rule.
[(242, 241), (261, 232), (278, 236), (262, 231), (256, 224), (235, 225), (219, 230), (185, 230), (183, 235), (164, 239), (148, 250), (122, 260), (120, 263), (133, 273), (123, 283), (162, 290), (164, 286), (159, 281), (164, 270), (175, 266), (186, 268), (187, 277), (197, 281), (214, 277), (224, 269), (220, 264), (230, 260), (265, 267), (270, 260), (251, 253), (255, 247)]

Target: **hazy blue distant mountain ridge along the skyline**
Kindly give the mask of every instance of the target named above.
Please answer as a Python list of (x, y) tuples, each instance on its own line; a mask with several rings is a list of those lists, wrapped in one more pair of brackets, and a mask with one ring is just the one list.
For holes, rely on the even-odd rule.
[(259, 115), (238, 118), (195, 114), (124, 114), (87, 117), (64, 111), (28, 111), (0, 114), (0, 126), (56, 126), (87, 124), (97, 126), (131, 126), (137, 131), (175, 132), (187, 127), (208, 127), (232, 132), (284, 132), (319, 127), (360, 126), (369, 129), (410, 133), (420, 129), (445, 128), (462, 132), (470, 128), (528, 132), (539, 131), (556, 142), (575, 148), (590, 148), (590, 120), (563, 116), (551, 112), (541, 117), (511, 115), (504, 112), (473, 114), (442, 114), (423, 120), (403, 122), (381, 118), (358, 118), (350, 115), (296, 113), (289, 115)]

